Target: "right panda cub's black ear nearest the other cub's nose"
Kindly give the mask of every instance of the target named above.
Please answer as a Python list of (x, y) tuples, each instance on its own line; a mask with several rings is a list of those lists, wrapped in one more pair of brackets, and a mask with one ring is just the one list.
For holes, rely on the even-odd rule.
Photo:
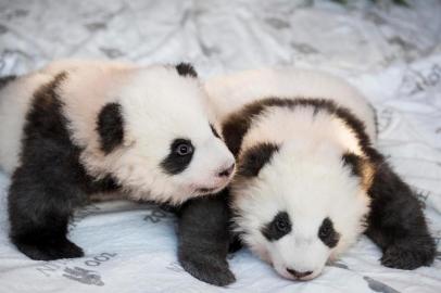
[(263, 166), (269, 163), (274, 152), (278, 150), (277, 144), (268, 142), (256, 144), (247, 150), (240, 158), (239, 174), (244, 177), (257, 176)]

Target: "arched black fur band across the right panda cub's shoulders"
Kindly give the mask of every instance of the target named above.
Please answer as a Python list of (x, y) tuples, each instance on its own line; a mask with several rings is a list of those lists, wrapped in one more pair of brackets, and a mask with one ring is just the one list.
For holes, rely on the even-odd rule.
[(248, 129), (251, 127), (255, 117), (270, 107), (288, 107), (294, 109), (299, 106), (314, 107), (314, 113), (326, 111), (331, 115), (338, 116), (343, 123), (354, 131), (357, 137), (361, 148), (367, 153), (370, 148), (369, 137), (366, 135), (365, 125), (356, 118), (351, 111), (345, 107), (338, 106), (330, 100), (325, 99), (279, 99), (268, 98), (245, 105), (241, 111), (231, 114), (223, 124), (223, 136), (231, 151), (237, 156), (242, 144), (242, 139)]

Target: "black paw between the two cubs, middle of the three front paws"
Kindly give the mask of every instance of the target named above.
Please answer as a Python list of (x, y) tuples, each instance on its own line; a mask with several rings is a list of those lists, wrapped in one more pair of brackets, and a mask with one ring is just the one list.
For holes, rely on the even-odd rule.
[(226, 259), (179, 255), (179, 263), (191, 276), (210, 284), (224, 286), (236, 281)]

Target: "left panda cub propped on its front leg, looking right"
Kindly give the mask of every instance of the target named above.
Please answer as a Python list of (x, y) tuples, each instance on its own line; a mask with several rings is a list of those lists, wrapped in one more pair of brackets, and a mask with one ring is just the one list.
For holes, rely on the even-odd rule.
[(65, 61), (1, 80), (10, 237), (33, 259), (84, 255), (67, 224), (99, 192), (178, 205), (234, 174), (189, 64)]

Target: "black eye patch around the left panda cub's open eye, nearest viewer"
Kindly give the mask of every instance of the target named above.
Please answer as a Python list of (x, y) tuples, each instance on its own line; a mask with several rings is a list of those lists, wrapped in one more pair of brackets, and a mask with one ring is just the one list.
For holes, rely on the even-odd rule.
[(175, 139), (169, 148), (169, 154), (161, 162), (165, 173), (177, 175), (184, 171), (193, 157), (194, 146), (188, 139)]

